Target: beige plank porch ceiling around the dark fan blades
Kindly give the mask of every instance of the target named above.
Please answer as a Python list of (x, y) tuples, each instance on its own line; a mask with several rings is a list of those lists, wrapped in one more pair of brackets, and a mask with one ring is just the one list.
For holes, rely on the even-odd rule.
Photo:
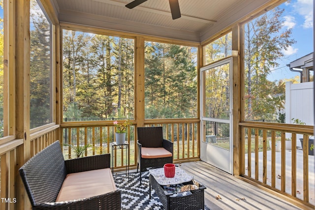
[(263, 4), (280, 0), (179, 0), (182, 17), (176, 20), (168, 0), (147, 0), (133, 9), (125, 6), (132, 0), (50, 1), (66, 23), (202, 42)]

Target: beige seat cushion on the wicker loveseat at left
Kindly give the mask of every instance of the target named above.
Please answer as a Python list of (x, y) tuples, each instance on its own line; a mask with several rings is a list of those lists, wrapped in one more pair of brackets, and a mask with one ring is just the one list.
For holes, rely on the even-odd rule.
[(116, 190), (109, 168), (68, 174), (56, 202), (89, 198)]

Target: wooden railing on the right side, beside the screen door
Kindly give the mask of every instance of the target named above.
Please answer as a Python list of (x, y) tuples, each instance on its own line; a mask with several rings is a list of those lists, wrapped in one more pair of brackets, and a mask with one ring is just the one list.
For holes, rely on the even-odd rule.
[[(313, 126), (259, 122), (240, 125), (242, 176), (314, 208), (315, 161), (308, 149), (314, 150), (314, 141), (309, 141)], [(300, 139), (303, 150), (297, 148)], [(285, 150), (286, 140), (290, 140), (291, 150)]]

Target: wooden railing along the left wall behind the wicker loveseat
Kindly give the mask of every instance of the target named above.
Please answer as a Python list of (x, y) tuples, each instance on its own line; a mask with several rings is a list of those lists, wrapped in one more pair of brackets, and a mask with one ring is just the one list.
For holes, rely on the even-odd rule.
[[(56, 141), (58, 128), (59, 125), (51, 123), (41, 127), (40, 130), (32, 130), (30, 136), (31, 156)], [(0, 141), (0, 195), (1, 198), (7, 199), (5, 202), (0, 202), (0, 209), (21, 209), (25, 197), (25, 195), (21, 195), (21, 192), (24, 192), (25, 189), (18, 175), (18, 169), (24, 163), (21, 155), (24, 154), (24, 139), (16, 139), (16, 136), (6, 136), (1, 138)], [(27, 198), (25, 201), (29, 203)]]

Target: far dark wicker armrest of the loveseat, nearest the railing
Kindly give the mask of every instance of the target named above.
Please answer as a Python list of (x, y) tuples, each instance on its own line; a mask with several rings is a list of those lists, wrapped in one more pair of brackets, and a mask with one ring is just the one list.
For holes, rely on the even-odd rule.
[(99, 154), (65, 160), (67, 174), (110, 168), (110, 154)]

